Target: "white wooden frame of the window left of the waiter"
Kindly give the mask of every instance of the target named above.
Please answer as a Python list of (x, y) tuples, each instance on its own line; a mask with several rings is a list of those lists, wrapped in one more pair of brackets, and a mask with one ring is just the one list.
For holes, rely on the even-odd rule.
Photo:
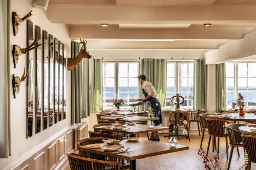
[[(102, 63), (114, 63), (114, 67), (115, 67), (115, 77), (114, 77), (114, 81), (115, 81), (115, 87), (114, 87), (114, 99), (118, 99), (118, 94), (119, 94), (119, 63), (127, 63), (128, 66), (128, 75), (127, 75), (127, 79), (129, 80), (129, 63), (137, 63), (138, 64), (138, 75), (139, 75), (139, 61), (102, 61)], [(105, 71), (105, 70), (104, 70)], [(103, 78), (103, 76), (102, 76)], [(129, 96), (129, 81), (128, 81), (128, 90), (127, 90), (127, 94)], [(138, 81), (138, 84), (137, 84), (137, 87), (138, 87), (138, 97), (139, 97), (139, 81)], [(102, 94), (103, 94), (103, 85), (102, 85)], [(127, 101), (129, 102), (129, 100)], [(103, 109), (115, 109), (115, 106), (111, 106), (111, 107), (105, 107), (104, 106), (104, 98), (102, 96), (102, 108)], [(132, 106), (122, 106), (122, 109), (132, 109), (133, 107)]]

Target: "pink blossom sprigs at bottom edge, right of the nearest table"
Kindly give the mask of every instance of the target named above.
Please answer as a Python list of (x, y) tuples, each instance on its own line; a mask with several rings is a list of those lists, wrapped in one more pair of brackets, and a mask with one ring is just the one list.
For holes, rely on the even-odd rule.
[[(209, 157), (207, 157), (205, 155), (204, 149), (202, 147), (200, 147), (200, 149), (198, 150), (198, 155), (200, 155), (203, 158), (203, 163), (204, 163), (204, 168), (207, 170), (211, 170), (212, 168), (217, 170), (221, 170), (221, 166), (220, 166), (220, 160), (219, 160), (219, 154), (217, 152), (217, 157), (214, 157), (214, 160), (209, 159)], [(211, 164), (209, 164), (211, 163)]]

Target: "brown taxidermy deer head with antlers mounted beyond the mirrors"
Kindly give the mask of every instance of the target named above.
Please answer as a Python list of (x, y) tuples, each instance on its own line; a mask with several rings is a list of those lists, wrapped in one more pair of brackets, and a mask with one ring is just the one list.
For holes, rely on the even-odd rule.
[(82, 47), (78, 55), (75, 58), (68, 58), (68, 63), (67, 63), (68, 71), (74, 69), (75, 66), (77, 66), (80, 63), (80, 61), (82, 61), (83, 58), (90, 59), (92, 57), (87, 51), (87, 47), (86, 47), (87, 41), (84, 39), (83, 40), (80, 39), (79, 44), (82, 44)]

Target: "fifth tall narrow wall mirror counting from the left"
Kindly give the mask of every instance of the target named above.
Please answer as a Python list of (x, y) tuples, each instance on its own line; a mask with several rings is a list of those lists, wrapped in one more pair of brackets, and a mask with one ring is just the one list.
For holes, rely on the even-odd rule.
[(57, 38), (54, 38), (54, 124), (58, 122), (58, 54), (59, 54), (59, 41)]

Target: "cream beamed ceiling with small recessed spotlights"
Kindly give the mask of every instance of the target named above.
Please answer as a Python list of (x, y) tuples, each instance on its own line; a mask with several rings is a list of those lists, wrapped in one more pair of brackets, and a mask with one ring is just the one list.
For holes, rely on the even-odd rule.
[(66, 24), (71, 39), (86, 38), (97, 56), (168, 56), (242, 39), (256, 30), (255, 11), (255, 0), (50, 0), (47, 15)]

